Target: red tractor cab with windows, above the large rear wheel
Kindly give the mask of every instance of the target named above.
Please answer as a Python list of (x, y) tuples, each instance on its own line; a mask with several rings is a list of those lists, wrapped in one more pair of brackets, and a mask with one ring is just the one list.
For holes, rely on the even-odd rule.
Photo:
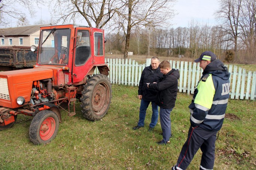
[[(104, 30), (78, 25), (41, 27), (38, 66), (63, 68), (65, 84), (84, 83), (86, 75), (109, 70), (104, 61)], [(31, 47), (36, 49), (36, 47)]]

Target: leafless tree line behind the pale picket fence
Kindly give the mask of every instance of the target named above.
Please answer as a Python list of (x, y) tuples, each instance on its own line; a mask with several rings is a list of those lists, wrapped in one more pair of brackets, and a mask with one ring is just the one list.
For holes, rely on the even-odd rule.
[[(190, 21), (188, 27), (135, 28), (131, 32), (133, 54), (198, 58), (213, 51), (226, 62), (256, 62), (256, 1), (222, 0), (215, 15), (218, 25)], [(125, 35), (107, 34), (106, 52), (124, 52)], [(230, 57), (231, 56), (231, 57)]]

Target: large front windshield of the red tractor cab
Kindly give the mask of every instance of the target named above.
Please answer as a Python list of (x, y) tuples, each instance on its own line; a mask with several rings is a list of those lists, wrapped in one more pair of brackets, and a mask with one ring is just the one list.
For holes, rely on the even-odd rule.
[(39, 64), (66, 65), (68, 63), (70, 29), (43, 30), (38, 51)]

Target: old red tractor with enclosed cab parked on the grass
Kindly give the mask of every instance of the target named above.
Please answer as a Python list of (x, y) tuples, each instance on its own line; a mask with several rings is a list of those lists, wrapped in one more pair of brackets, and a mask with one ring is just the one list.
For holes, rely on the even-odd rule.
[[(33, 69), (0, 72), (0, 130), (11, 127), (17, 114), (33, 116), (29, 136), (34, 144), (52, 141), (61, 123), (60, 108), (101, 119), (109, 109), (112, 89), (104, 57), (104, 30), (78, 25), (40, 28), (37, 64)], [(94, 74), (98, 68), (100, 74)], [(70, 104), (73, 110), (70, 111)]]

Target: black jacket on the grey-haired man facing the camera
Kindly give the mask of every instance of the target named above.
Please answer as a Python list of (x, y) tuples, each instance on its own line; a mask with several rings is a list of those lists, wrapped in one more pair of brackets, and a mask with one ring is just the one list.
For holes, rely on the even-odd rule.
[(144, 68), (138, 88), (138, 95), (142, 95), (143, 100), (155, 101), (157, 91), (147, 88), (147, 83), (159, 82), (162, 75), (159, 67), (155, 70), (152, 70), (151, 65)]

